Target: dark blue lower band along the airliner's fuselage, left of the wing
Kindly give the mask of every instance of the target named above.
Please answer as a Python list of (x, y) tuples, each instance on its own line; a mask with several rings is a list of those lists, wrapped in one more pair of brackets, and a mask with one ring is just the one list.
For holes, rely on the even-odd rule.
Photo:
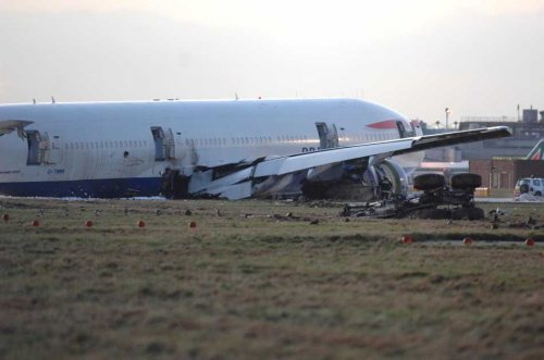
[(160, 177), (0, 183), (0, 195), (53, 198), (124, 198), (132, 196), (156, 196), (159, 195), (160, 186)]

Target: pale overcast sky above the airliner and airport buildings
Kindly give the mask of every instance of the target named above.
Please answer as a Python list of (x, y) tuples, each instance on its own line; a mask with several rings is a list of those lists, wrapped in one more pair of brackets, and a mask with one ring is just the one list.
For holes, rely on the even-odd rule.
[(544, 0), (0, 0), (0, 103), (356, 97), (544, 110)]

